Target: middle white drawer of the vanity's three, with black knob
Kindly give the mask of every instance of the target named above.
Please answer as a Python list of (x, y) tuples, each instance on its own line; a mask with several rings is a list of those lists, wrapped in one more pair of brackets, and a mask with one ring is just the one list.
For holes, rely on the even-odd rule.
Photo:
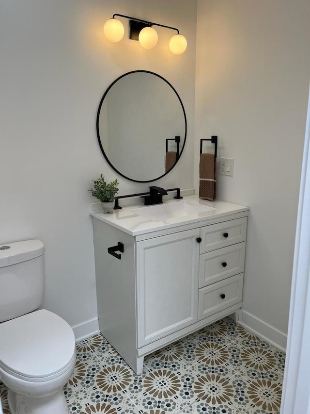
[(244, 271), (246, 242), (219, 248), (200, 256), (199, 287), (219, 282)]

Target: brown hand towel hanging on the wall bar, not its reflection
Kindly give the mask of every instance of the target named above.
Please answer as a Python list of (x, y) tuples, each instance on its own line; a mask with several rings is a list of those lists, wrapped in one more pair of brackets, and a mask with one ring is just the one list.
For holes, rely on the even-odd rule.
[(199, 163), (199, 197), (201, 199), (216, 199), (216, 160), (214, 154), (201, 154)]

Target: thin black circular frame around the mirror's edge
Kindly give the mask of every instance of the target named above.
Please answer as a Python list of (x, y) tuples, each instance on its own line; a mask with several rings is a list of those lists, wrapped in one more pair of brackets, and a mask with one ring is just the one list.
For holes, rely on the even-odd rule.
[[(164, 174), (162, 174), (161, 176), (159, 176), (159, 177), (157, 177), (157, 178), (154, 178), (153, 180), (146, 180), (146, 181), (134, 180), (134, 179), (132, 179), (132, 178), (129, 178), (129, 177), (125, 176), (124, 174), (122, 174), (120, 171), (118, 171), (118, 170), (117, 170), (117, 169), (116, 169), (116, 168), (115, 168), (115, 167), (111, 164), (111, 162), (109, 161), (109, 158), (108, 158), (107, 154), (105, 153), (105, 151), (104, 151), (104, 149), (103, 149), (103, 146), (102, 146), (102, 144), (101, 144), (101, 140), (100, 140), (100, 133), (99, 133), (99, 116), (100, 116), (100, 110), (101, 110), (101, 106), (102, 106), (102, 104), (103, 104), (103, 101), (104, 101), (105, 97), (107, 96), (107, 94), (108, 94), (109, 90), (110, 90), (110, 89), (111, 89), (111, 87), (114, 85), (114, 83), (116, 83), (116, 82), (117, 82), (117, 81), (119, 81), (120, 79), (124, 78), (124, 77), (125, 77), (125, 76), (127, 76), (127, 75), (130, 75), (131, 73), (137, 73), (137, 72), (139, 72), (139, 73), (140, 73), (140, 72), (142, 72), (142, 73), (150, 73), (150, 74), (155, 75), (155, 76), (157, 76), (158, 78), (162, 79), (164, 82), (168, 83), (168, 85), (171, 87), (171, 89), (174, 91), (174, 93), (176, 94), (177, 98), (178, 98), (178, 99), (179, 99), (179, 101), (180, 101), (181, 108), (182, 108), (182, 110), (183, 110), (183, 114), (184, 114), (184, 121), (185, 121), (184, 143), (183, 143), (183, 147), (182, 147), (182, 149), (181, 149), (181, 151), (180, 151), (179, 157), (178, 157), (178, 159), (176, 160), (175, 164), (174, 164), (174, 165), (173, 165), (173, 166), (172, 166), (172, 167), (171, 167), (168, 171), (166, 171)], [(134, 181), (134, 182), (152, 182), (152, 181), (159, 180), (160, 178), (162, 178), (162, 177), (164, 177), (165, 175), (167, 175), (167, 174), (168, 174), (168, 173), (172, 170), (172, 168), (174, 168), (174, 167), (177, 165), (177, 163), (178, 163), (179, 159), (181, 158), (181, 155), (182, 155), (183, 149), (184, 149), (184, 147), (185, 147), (185, 142), (186, 142), (187, 120), (186, 120), (186, 114), (185, 114), (185, 109), (184, 109), (183, 102), (182, 102), (182, 100), (181, 100), (181, 98), (180, 98), (179, 94), (177, 93), (177, 91), (176, 91), (176, 90), (175, 90), (175, 88), (171, 85), (171, 83), (170, 83), (170, 82), (168, 82), (165, 78), (163, 78), (162, 76), (158, 75), (157, 73), (155, 73), (155, 72), (151, 72), (151, 71), (149, 71), (149, 70), (132, 70), (131, 72), (124, 73), (124, 75), (122, 75), (122, 76), (118, 77), (117, 79), (115, 79), (115, 81), (114, 81), (114, 82), (112, 82), (112, 83), (109, 85), (108, 89), (107, 89), (107, 90), (106, 90), (106, 92), (104, 93), (104, 95), (103, 95), (102, 99), (100, 100), (100, 103), (99, 103), (99, 108), (98, 108), (98, 112), (97, 112), (97, 118), (96, 118), (96, 130), (97, 130), (97, 138), (98, 138), (98, 143), (99, 143), (99, 147), (100, 147), (100, 149), (101, 149), (101, 152), (103, 153), (103, 155), (104, 155), (105, 159), (107, 160), (107, 162), (108, 162), (109, 166), (111, 166), (111, 167), (114, 169), (114, 171), (116, 171), (116, 172), (117, 172), (120, 176), (122, 176), (122, 177), (124, 177), (124, 178), (126, 178), (127, 180), (130, 180), (130, 181)]]

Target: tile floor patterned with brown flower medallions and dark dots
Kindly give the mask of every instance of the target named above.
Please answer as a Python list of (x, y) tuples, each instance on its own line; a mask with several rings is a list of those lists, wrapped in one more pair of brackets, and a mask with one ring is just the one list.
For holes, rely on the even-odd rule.
[[(285, 355), (230, 318), (148, 355), (141, 375), (101, 335), (77, 351), (64, 387), (71, 414), (279, 413)], [(10, 414), (6, 394), (0, 382)]]

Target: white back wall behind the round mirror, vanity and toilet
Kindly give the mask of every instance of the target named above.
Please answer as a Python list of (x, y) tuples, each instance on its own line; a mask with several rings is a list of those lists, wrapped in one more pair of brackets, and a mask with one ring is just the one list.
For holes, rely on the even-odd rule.
[[(188, 48), (173, 55), (168, 47), (173, 33), (167, 29), (158, 29), (153, 50), (126, 35), (112, 44), (103, 25), (113, 13), (178, 27)], [(44, 242), (44, 306), (72, 326), (97, 315), (88, 214), (95, 200), (87, 189), (100, 173), (109, 181), (116, 178), (97, 143), (99, 101), (109, 84), (130, 70), (152, 70), (171, 82), (185, 105), (188, 138), (178, 165), (157, 184), (192, 187), (195, 28), (196, 1), (0, 3), (0, 244)], [(119, 181), (120, 194), (147, 189)]]

